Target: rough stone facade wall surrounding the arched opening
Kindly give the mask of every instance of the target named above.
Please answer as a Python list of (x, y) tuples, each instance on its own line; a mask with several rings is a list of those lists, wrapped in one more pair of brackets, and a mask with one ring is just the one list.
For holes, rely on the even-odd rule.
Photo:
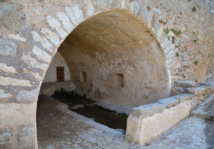
[(37, 148), (44, 75), (61, 42), (97, 13), (122, 8), (142, 19), (164, 50), (172, 84), (214, 73), (211, 0), (3, 0), (0, 7), (0, 148)]

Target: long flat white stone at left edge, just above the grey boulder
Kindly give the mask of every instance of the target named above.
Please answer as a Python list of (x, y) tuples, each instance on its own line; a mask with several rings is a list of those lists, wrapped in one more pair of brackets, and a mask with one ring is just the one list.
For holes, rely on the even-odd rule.
[(29, 80), (22, 80), (22, 79), (12, 79), (8, 77), (0, 76), (0, 84), (3, 86), (28, 86), (31, 87)]

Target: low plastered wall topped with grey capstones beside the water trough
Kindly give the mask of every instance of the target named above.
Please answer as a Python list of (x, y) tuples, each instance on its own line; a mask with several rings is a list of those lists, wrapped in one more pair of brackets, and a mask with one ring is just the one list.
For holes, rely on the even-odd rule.
[(187, 94), (133, 108), (127, 121), (126, 140), (139, 145), (150, 143), (189, 116), (191, 110), (214, 91), (209, 86), (187, 90)]

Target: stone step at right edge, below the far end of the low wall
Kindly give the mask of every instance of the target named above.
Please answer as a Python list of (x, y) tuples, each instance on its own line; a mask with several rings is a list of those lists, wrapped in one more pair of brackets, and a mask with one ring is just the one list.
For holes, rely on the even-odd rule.
[(191, 112), (191, 115), (214, 121), (214, 93), (198, 105), (196, 109)]

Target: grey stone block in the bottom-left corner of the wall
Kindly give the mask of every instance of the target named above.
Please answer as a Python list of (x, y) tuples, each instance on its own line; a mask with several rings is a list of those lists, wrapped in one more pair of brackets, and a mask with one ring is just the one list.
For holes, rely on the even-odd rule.
[(0, 148), (11, 149), (11, 129), (0, 129)]

